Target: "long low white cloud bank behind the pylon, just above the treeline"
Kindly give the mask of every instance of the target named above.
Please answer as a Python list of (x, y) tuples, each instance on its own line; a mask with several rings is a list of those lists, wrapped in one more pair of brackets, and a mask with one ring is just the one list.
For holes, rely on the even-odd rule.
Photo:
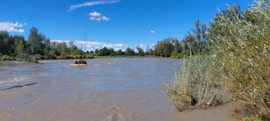
[[(65, 43), (68, 43), (69, 40), (52, 40), (54, 42), (65, 42)], [(74, 41), (75, 45), (80, 48), (81, 47), (81, 43), (84, 44), (84, 41), (78, 41), (78, 40), (75, 40)], [(111, 43), (101, 43), (101, 42), (90, 42), (90, 41), (87, 41), (86, 42), (86, 48), (88, 51), (92, 51), (92, 50), (95, 50), (95, 49), (101, 49), (103, 47), (107, 47), (107, 48), (113, 48), (113, 49), (116, 49), (116, 50), (119, 50), (120, 47), (125, 47), (123, 44), (111, 44)]]

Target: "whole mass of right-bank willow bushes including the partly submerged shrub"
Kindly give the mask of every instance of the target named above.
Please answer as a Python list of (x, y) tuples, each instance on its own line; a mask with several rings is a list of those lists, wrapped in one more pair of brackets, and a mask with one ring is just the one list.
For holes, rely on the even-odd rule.
[(165, 85), (168, 100), (180, 111), (206, 109), (222, 103), (223, 90), (246, 104), (251, 118), (238, 119), (270, 120), (269, 27), (268, 1), (254, 1), (246, 12), (239, 5), (219, 10), (202, 44), (211, 56), (184, 58), (173, 83)]

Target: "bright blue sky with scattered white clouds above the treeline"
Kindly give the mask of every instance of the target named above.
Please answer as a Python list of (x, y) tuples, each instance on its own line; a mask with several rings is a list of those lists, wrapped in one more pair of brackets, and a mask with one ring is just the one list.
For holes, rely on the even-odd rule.
[[(89, 38), (87, 40), (89, 41), (87, 42), (87, 50), (99, 49), (103, 46), (113, 47), (115, 50), (125, 50), (127, 47), (135, 48), (138, 45), (145, 49), (146, 45), (151, 47), (151, 44), (163, 38), (185, 35), (187, 30), (194, 26), (194, 20), (196, 19), (209, 24), (217, 13), (217, 8), (224, 10), (226, 3), (230, 4), (233, 2), (232, 0), (201, 0), (191, 8), (151, 30), (151, 28), (188, 8), (198, 0), (182, 0), (181, 2), (179, 2), (180, 0), (120, 1), (1, 1), (0, 30), (8, 30), (12, 35), (19, 34), (25, 36), (29, 34), (29, 30), (34, 26), (39, 29), (39, 32), (54, 41), (68, 42), (69, 40), (74, 40), (78, 47), (80, 47), (83, 36), (86, 35)], [(177, 5), (152, 21), (177, 2), (179, 2)], [(234, 0), (235, 5), (241, 5), (241, 9), (244, 11), (252, 2), (252, 0)], [(119, 6), (116, 9), (118, 4)], [(137, 6), (133, 9), (136, 4)], [(151, 9), (154, 5), (156, 6)], [(109, 13), (111, 9), (112, 11)], [(131, 11), (131, 9), (133, 10)], [(112, 16), (114, 10), (115, 12)], [(150, 11), (145, 14), (148, 10)], [(127, 16), (129, 12), (130, 14)], [(126, 18), (124, 19), (124, 17)], [(140, 17), (141, 19), (139, 19)], [(137, 19), (139, 20), (134, 23)], [(122, 23), (119, 24), (121, 21)], [(152, 22), (149, 23), (150, 21)], [(103, 26), (101, 26), (102, 23)], [(106, 23), (107, 25), (104, 27)], [(126, 29), (132, 23), (134, 24)], [(149, 24), (146, 25), (147, 23)], [(117, 25), (119, 26), (116, 28)], [(143, 27), (144, 25), (146, 26)], [(103, 27), (103, 31), (100, 32)], [(143, 28), (140, 29), (141, 27)], [(99, 28), (100, 30), (97, 32)], [(116, 29), (114, 30), (114, 28)], [(124, 29), (126, 30), (122, 32)], [(134, 33), (135, 31), (137, 32)], [(120, 32), (122, 33), (119, 34)], [(134, 34), (131, 35), (132, 33)], [(94, 36), (95, 34), (96, 36)], [(182, 38), (177, 37), (177, 39)]]

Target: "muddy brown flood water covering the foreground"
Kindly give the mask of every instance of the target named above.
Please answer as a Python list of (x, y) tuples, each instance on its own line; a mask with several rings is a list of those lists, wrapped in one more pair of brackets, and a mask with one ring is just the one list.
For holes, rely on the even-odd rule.
[(232, 104), (177, 111), (163, 94), (181, 59), (0, 61), (0, 120), (235, 120)]

